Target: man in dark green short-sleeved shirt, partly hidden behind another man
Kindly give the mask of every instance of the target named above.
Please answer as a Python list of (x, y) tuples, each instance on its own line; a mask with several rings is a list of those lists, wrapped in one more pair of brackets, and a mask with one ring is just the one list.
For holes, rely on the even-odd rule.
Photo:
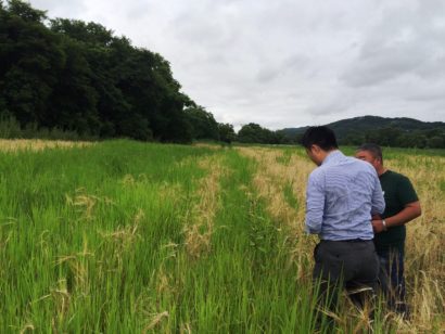
[(421, 215), (419, 198), (407, 177), (383, 166), (380, 146), (364, 144), (357, 149), (356, 157), (367, 160), (376, 168), (386, 204), (383, 215), (372, 218), (376, 251), (380, 260), (381, 288), (390, 308), (407, 316), (404, 278), (405, 224)]

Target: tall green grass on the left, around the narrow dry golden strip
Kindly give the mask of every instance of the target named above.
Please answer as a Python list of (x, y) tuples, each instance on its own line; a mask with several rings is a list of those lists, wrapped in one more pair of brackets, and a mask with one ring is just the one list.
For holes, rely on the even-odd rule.
[[(223, 155), (212, 247), (183, 227)], [(0, 154), (0, 332), (258, 333), (313, 326), (309, 282), (236, 151), (112, 141)]]

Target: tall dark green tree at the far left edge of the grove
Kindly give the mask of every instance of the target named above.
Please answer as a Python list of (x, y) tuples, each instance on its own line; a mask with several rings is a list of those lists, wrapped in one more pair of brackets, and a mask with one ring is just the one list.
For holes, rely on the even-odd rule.
[(44, 12), (11, 0), (1, 9), (0, 105), (21, 125), (46, 126), (48, 105), (65, 54), (60, 38), (44, 25)]

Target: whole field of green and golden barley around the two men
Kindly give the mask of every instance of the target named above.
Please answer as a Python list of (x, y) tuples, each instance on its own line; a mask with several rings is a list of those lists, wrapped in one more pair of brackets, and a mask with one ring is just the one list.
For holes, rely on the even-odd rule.
[[(0, 333), (313, 332), (302, 149), (0, 146)], [(412, 317), (381, 306), (371, 323), (344, 299), (339, 333), (444, 333), (445, 152), (384, 155), (423, 208)]]

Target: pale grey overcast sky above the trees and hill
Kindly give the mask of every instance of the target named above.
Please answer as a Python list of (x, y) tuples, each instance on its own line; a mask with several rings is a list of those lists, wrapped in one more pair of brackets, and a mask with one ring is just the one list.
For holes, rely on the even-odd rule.
[(445, 121), (443, 0), (31, 0), (161, 53), (218, 121)]

